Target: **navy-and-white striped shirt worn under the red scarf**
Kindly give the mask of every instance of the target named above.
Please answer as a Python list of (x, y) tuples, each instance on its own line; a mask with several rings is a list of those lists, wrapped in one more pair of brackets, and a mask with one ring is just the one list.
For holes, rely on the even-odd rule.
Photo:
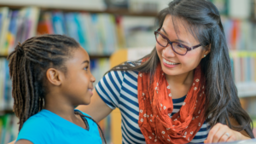
[[(137, 99), (137, 72), (108, 72), (101, 81), (96, 84), (96, 91), (102, 100), (114, 109), (119, 108), (122, 118), (122, 142), (146, 143), (138, 126), (139, 106)], [(170, 117), (180, 110), (186, 96), (172, 99), (173, 112)], [(207, 139), (210, 126), (205, 122), (201, 126), (194, 139), (190, 143), (203, 143)]]

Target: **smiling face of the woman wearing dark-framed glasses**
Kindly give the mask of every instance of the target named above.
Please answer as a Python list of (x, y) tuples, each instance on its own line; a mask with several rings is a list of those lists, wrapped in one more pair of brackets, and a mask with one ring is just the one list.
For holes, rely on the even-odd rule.
[[(160, 29), (160, 33), (166, 36), (171, 42), (182, 43), (183, 45), (193, 47), (200, 44), (193, 35), (183, 25), (184, 20), (175, 18), (175, 27), (172, 23), (172, 15), (166, 15), (163, 26)], [(199, 65), (204, 55), (208, 52), (201, 46), (188, 51), (186, 55), (177, 55), (172, 49), (171, 44), (166, 47), (162, 47), (159, 43), (156, 43), (157, 54), (160, 58), (160, 64), (163, 72), (166, 75), (174, 76), (181, 75), (186, 72), (190, 72)]]

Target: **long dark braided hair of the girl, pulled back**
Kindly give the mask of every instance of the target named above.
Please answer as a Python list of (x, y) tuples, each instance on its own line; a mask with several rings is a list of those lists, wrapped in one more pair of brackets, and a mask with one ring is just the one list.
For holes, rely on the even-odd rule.
[[(66, 73), (64, 62), (79, 47), (79, 43), (71, 37), (43, 35), (19, 43), (8, 56), (14, 111), (20, 119), (19, 130), (28, 118), (44, 108), (44, 96), (48, 93), (45, 86), (46, 71), (54, 67)], [(104, 135), (103, 138), (106, 142)]]

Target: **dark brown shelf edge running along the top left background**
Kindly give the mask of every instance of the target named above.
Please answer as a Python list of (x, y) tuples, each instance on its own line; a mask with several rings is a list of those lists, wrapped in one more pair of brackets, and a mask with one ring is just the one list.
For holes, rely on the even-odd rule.
[[(27, 5), (29, 6), (29, 5)], [(21, 9), (27, 6), (20, 6), (20, 5), (6, 5), (1, 4), (0, 7), (9, 7), (9, 9)], [(33, 6), (33, 5), (30, 5)], [(50, 8), (50, 7), (44, 7), (44, 6), (38, 6), (38, 8), (42, 10), (49, 10), (49, 11), (55, 11), (55, 10), (61, 10), (63, 12), (87, 12), (87, 13), (107, 13), (107, 14), (117, 14), (117, 15), (130, 15), (130, 16), (147, 16), (147, 17), (155, 17), (157, 16), (157, 13), (155, 12), (131, 12), (128, 9), (105, 9), (105, 10), (95, 10), (95, 9), (69, 9), (69, 8)]]

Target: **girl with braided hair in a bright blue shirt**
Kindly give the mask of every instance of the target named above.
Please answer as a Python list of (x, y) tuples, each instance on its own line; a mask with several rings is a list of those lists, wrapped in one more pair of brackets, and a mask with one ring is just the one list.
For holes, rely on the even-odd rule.
[(95, 82), (79, 43), (62, 35), (32, 37), (8, 59), (20, 118), (16, 144), (102, 143), (96, 122), (73, 108), (90, 104)]

